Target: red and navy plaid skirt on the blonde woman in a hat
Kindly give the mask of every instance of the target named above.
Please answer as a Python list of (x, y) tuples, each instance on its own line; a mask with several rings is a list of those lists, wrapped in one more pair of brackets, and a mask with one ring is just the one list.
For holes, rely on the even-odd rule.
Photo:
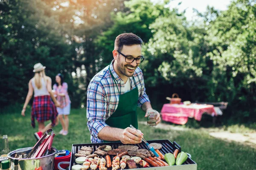
[(31, 125), (35, 128), (35, 119), (38, 122), (52, 121), (52, 126), (55, 126), (58, 116), (57, 109), (53, 104), (49, 95), (34, 97), (31, 111)]

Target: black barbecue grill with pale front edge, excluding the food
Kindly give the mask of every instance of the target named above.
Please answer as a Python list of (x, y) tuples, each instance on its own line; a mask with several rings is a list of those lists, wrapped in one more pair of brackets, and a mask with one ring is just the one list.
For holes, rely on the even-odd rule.
[[(163, 154), (173, 153), (175, 149), (178, 149), (179, 152), (181, 152), (180, 145), (177, 144), (176, 142), (172, 143), (168, 139), (148, 140), (147, 142), (149, 144), (151, 144), (151, 143), (160, 143), (160, 144), (162, 144), (163, 147), (160, 149), (160, 152), (163, 153)], [(83, 146), (93, 147), (93, 151), (95, 151), (96, 148), (98, 148), (99, 146), (104, 145), (104, 144), (110, 145), (112, 147), (112, 149), (117, 149), (118, 146), (125, 145), (125, 144), (122, 144), (121, 142), (94, 143), (94, 144), (91, 144), (91, 143), (90, 144), (73, 144), (72, 145), (72, 155), (71, 155), (71, 159), (70, 159), (69, 170), (71, 170), (71, 167), (76, 164), (76, 162), (75, 162), (75, 160), (76, 160), (75, 153), (78, 153), (78, 151), (80, 150), (81, 147), (83, 147)], [(135, 145), (135, 146), (139, 147), (139, 149), (148, 150), (148, 147), (144, 142), (142, 142), (140, 144), (129, 144), (129, 145)], [(112, 161), (114, 155), (110, 155), (110, 157), (111, 157), (111, 161)], [(104, 156), (104, 158), (105, 158), (105, 156)], [(191, 158), (188, 158), (182, 165), (173, 165), (173, 166), (165, 166), (165, 167), (152, 167), (150, 165), (150, 167), (146, 167), (146, 169), (145, 168), (142, 169), (142, 168), (143, 167), (141, 167), (139, 164), (137, 164), (137, 169), (136, 170), (196, 170), (197, 169), (197, 164)], [(108, 168), (108, 170), (111, 170), (111, 169), (112, 169), (112, 167)], [(125, 169), (129, 169), (128, 166), (126, 166)], [(132, 170), (135, 170), (135, 169), (132, 169)]]

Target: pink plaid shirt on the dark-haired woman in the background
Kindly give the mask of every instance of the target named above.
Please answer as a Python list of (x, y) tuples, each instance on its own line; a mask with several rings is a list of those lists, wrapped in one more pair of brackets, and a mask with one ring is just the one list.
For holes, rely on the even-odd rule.
[(57, 100), (61, 104), (60, 108), (66, 107), (68, 104), (70, 104), (70, 98), (67, 93), (67, 83), (63, 82), (61, 88), (58, 88), (56, 84), (53, 85), (53, 90), (57, 92), (57, 94), (65, 94), (65, 96), (59, 96), (57, 95)]

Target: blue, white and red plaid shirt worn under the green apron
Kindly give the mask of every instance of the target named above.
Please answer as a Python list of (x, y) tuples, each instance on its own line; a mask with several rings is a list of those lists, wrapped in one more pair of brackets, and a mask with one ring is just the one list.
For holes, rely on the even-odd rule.
[[(87, 126), (90, 130), (92, 143), (103, 142), (102, 139), (98, 138), (98, 133), (103, 127), (108, 126), (105, 121), (116, 111), (119, 103), (119, 91), (121, 94), (125, 93), (124, 81), (116, 74), (111, 64), (110, 69), (113, 78), (116, 79), (117, 88), (108, 67), (105, 67), (91, 79), (87, 89)], [(143, 103), (150, 102), (145, 93), (143, 73), (139, 67), (134, 71), (136, 85), (132, 77), (129, 79), (131, 80), (131, 89), (136, 88), (136, 85), (138, 87), (138, 106), (141, 107)]]

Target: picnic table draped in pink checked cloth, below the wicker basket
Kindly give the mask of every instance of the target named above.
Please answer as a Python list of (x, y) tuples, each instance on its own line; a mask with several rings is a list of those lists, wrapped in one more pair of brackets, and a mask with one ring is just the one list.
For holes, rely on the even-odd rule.
[(195, 118), (201, 121), (202, 115), (207, 113), (211, 116), (217, 116), (213, 105), (192, 103), (184, 104), (164, 104), (161, 110), (162, 119), (166, 122), (172, 122), (179, 125), (184, 125), (188, 118)]

